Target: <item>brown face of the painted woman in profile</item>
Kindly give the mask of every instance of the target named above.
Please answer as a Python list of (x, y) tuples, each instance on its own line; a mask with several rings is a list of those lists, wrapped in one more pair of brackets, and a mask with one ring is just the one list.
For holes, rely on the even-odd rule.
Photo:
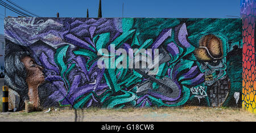
[(27, 70), (27, 84), (39, 85), (44, 81), (43, 68), (36, 64), (35, 60), (29, 56), (23, 57), (20, 61), (24, 64)]

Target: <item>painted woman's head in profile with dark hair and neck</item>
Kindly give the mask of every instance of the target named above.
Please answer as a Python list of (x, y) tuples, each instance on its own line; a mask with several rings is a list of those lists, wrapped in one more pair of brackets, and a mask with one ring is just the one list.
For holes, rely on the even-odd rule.
[(35, 109), (39, 109), (38, 87), (44, 83), (43, 68), (24, 49), (8, 53), (5, 56), (5, 66), (5, 84), (19, 94), (19, 108), (24, 108), (24, 101), (29, 100)]

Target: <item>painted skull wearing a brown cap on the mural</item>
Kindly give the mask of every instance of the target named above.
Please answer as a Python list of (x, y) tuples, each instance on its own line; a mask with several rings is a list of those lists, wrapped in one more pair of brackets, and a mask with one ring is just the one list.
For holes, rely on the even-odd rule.
[(225, 49), (223, 41), (216, 35), (205, 35), (199, 40), (195, 55), (200, 62), (200, 70), (205, 74), (205, 85), (212, 85), (226, 75)]

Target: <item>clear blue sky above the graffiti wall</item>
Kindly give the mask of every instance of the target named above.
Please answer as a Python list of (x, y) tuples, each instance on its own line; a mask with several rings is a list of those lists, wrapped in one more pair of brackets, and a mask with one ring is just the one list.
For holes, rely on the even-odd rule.
[[(6, 2), (6, 0), (2, 0)], [(41, 17), (97, 18), (98, 0), (11, 0)], [(240, 16), (240, 0), (102, 0), (103, 18), (233, 18)], [(0, 33), (5, 8), (0, 6)], [(227, 16), (229, 15), (229, 16)], [(6, 16), (18, 16), (6, 9)]]

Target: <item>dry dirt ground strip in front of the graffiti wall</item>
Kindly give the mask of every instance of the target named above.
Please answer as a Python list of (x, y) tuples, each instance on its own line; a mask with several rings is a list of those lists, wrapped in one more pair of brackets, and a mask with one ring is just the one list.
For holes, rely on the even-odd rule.
[(147, 109), (52, 109), (40, 112), (0, 113), (0, 122), (5, 121), (84, 121), (84, 122), (256, 122), (256, 114), (237, 108), (208, 108), (189, 106), (182, 108), (147, 108)]

